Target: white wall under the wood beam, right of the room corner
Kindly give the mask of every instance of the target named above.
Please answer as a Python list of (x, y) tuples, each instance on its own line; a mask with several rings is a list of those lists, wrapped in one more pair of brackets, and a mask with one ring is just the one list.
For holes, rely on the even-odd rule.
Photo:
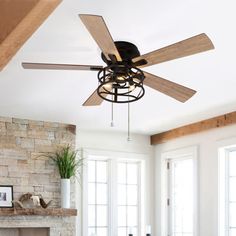
[(236, 125), (189, 135), (155, 146), (155, 236), (161, 236), (161, 154), (192, 145), (199, 150), (199, 236), (217, 236), (218, 147), (235, 142)]

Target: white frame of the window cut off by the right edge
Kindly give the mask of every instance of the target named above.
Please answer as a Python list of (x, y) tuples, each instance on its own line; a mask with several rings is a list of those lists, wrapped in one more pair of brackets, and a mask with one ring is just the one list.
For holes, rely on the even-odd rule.
[[(232, 142), (231, 142), (232, 143)], [(236, 151), (233, 145), (218, 149), (218, 235), (229, 236), (229, 153)]]

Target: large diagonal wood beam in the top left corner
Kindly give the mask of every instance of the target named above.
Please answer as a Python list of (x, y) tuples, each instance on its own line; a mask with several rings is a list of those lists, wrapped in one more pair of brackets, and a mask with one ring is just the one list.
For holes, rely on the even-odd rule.
[(61, 1), (1, 0), (0, 71)]

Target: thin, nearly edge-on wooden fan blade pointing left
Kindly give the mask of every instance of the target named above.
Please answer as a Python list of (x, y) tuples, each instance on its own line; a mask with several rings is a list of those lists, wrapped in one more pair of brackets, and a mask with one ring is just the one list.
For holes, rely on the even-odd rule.
[(47, 64), (47, 63), (30, 63), (23, 62), (24, 69), (36, 70), (101, 70), (102, 66), (93, 65), (71, 65), (71, 64)]

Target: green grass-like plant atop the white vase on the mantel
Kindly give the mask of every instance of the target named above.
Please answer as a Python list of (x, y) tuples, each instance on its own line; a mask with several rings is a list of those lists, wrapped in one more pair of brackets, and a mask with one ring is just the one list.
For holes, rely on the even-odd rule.
[(78, 150), (73, 150), (69, 145), (59, 148), (55, 153), (49, 154), (58, 167), (62, 179), (75, 177), (78, 168), (83, 165), (83, 158), (77, 159)]

